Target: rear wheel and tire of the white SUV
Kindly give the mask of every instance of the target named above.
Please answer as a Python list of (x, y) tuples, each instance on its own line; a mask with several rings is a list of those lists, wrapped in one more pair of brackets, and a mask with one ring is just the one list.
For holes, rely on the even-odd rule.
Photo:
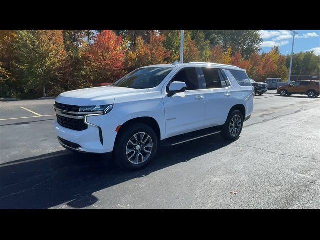
[[(233, 125), (237, 125), (238, 127), (232, 128)], [(243, 128), (243, 116), (239, 110), (234, 110), (229, 113), (228, 118), (226, 119), (221, 135), (225, 140), (236, 140)], [(237, 129), (237, 130), (236, 130)]]

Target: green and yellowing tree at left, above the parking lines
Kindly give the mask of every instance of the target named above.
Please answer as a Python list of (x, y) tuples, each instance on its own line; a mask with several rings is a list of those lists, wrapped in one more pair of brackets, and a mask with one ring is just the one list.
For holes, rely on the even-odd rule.
[(45, 87), (52, 89), (59, 84), (66, 57), (61, 30), (17, 31), (14, 49), (16, 76), (26, 88), (43, 87), (45, 96)]

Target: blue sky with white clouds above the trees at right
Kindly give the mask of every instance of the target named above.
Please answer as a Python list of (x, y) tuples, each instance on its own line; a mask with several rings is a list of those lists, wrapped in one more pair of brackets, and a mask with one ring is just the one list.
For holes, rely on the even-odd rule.
[[(295, 30), (299, 34), (294, 38), (293, 52), (314, 50), (320, 55), (320, 30)], [(261, 30), (263, 38), (262, 52), (269, 52), (274, 45), (278, 45), (283, 55), (291, 54), (293, 33), (288, 30)]]

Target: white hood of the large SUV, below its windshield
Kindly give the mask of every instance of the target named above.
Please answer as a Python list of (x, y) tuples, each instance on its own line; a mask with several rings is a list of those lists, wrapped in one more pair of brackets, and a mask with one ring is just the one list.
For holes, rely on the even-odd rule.
[(101, 86), (63, 92), (56, 97), (55, 101), (76, 106), (113, 104), (116, 96), (135, 95), (147, 91), (148, 89)]

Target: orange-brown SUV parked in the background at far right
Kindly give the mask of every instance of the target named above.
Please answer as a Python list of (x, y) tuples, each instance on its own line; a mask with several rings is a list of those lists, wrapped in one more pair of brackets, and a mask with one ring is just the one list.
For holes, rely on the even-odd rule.
[(308, 95), (308, 97), (316, 97), (320, 93), (320, 81), (314, 80), (300, 80), (294, 81), (288, 85), (280, 86), (276, 89), (276, 93), (281, 96), (300, 94)]

